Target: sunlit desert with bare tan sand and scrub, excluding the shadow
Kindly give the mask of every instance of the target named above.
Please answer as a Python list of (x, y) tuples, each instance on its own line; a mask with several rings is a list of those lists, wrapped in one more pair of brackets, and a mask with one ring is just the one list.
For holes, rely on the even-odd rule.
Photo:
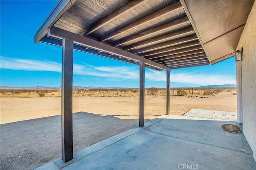
[[(178, 94), (179, 91), (184, 94)], [(0, 96), (1, 124), (61, 114), (60, 90), (2, 89)], [(183, 115), (190, 109), (236, 112), (236, 89), (171, 88), (170, 113)], [(74, 89), (73, 112), (81, 111), (137, 119), (139, 89)], [(163, 114), (166, 114), (166, 89), (146, 89), (145, 119), (152, 120)]]

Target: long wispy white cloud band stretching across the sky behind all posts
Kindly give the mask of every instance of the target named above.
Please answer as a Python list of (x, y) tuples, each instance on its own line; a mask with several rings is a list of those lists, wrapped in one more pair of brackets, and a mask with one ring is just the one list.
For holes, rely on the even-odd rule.
[[(54, 71), (61, 73), (61, 63), (53, 61), (41, 61), (31, 59), (18, 59), (1, 56), (2, 69), (14, 69), (25, 71)], [(106, 77), (110, 79), (139, 79), (138, 66), (93, 66), (86, 63), (74, 64), (73, 72), (75, 75), (90, 75), (95, 77)], [(145, 78), (149, 81), (166, 81), (165, 71), (154, 71), (146, 69)], [(231, 75), (204, 74), (171, 72), (171, 82), (214, 85), (214, 84), (236, 84), (235, 77)]]

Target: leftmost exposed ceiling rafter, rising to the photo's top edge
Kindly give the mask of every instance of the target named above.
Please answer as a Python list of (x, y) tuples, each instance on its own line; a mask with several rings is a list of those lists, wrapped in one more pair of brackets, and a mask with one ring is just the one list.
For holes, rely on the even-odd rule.
[(128, 4), (124, 5), (120, 9), (116, 10), (115, 12), (113, 12), (112, 14), (107, 16), (106, 18), (100, 20), (96, 24), (93, 24), (90, 28), (88, 28), (87, 30), (82, 32), (80, 35), (87, 36), (87, 35), (91, 34), (92, 32), (98, 30), (100, 27), (108, 24), (109, 22), (111, 22), (111, 21), (115, 20), (116, 18), (120, 17), (121, 15), (125, 14), (126, 12), (129, 12), (130, 10), (136, 8), (137, 6), (140, 6), (144, 2), (146, 2), (146, 1), (134, 0), (134, 1), (129, 2)]

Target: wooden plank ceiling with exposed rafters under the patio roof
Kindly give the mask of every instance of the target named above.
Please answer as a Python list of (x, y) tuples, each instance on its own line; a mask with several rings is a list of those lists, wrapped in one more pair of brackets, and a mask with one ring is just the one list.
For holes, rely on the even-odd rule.
[[(188, 18), (186, 14), (199, 14), (198, 8), (195, 8), (192, 2), (187, 5), (194, 7), (193, 11), (188, 11), (186, 6), (185, 12), (182, 3), (173, 0), (71, 1), (71, 4), (65, 4), (66, 8), (62, 9), (64, 12), (61, 15), (59, 13), (59, 17), (56, 17), (48, 28), (57, 27), (111, 45), (170, 69), (208, 65), (209, 56), (206, 56), (205, 48), (201, 45), (204, 42), (198, 40), (195, 26), (192, 27), (194, 23), (190, 22), (192, 18), (190, 15)], [(58, 4), (55, 9), (58, 9)], [(196, 19), (200, 20), (199, 17)], [(196, 24), (198, 22), (196, 21)], [(205, 23), (201, 25), (205, 26)], [(62, 45), (58, 40), (50, 40), (47, 35), (43, 35), (40, 40), (36, 39), (37, 35), (35, 42)], [(92, 47), (74, 45), (74, 49), (139, 65), (138, 61), (98, 51)], [(161, 70), (147, 63), (145, 67)]]

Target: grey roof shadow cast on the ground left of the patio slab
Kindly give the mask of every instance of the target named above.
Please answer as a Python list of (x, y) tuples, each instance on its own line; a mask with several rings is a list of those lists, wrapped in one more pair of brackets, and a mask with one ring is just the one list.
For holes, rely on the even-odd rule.
[[(74, 113), (74, 152), (138, 123), (138, 119)], [(34, 169), (61, 157), (61, 115), (2, 124), (0, 128), (1, 169)]]

